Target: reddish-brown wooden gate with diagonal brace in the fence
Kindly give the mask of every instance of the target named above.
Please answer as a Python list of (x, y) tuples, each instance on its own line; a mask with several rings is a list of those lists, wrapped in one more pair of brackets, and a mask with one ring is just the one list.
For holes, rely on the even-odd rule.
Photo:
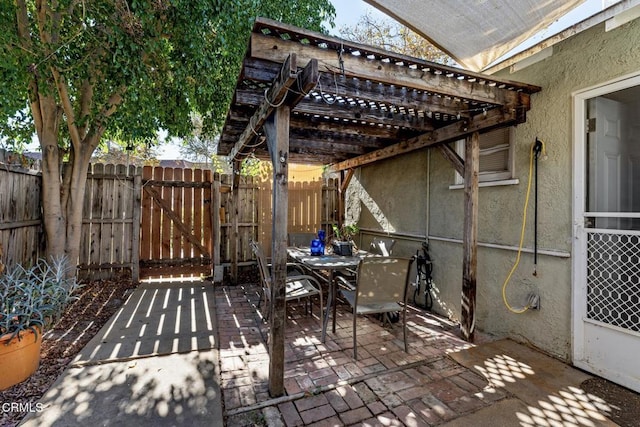
[(210, 275), (213, 173), (145, 166), (140, 277)]

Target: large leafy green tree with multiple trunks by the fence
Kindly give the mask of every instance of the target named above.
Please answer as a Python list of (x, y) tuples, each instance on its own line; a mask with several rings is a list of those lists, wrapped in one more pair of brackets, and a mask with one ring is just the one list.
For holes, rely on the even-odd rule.
[(194, 112), (215, 130), (256, 16), (322, 31), (334, 14), (328, 0), (2, 0), (0, 137), (38, 137), (48, 252), (77, 259), (103, 137), (186, 137)]

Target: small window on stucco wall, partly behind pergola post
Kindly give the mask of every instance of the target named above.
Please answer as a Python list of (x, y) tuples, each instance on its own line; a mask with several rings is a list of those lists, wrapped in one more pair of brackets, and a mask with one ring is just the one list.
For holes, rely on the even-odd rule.
[[(513, 178), (513, 128), (501, 128), (480, 135), (480, 182), (507, 181)], [(464, 140), (456, 142), (456, 152), (464, 158)], [(464, 184), (456, 172), (455, 183)]]

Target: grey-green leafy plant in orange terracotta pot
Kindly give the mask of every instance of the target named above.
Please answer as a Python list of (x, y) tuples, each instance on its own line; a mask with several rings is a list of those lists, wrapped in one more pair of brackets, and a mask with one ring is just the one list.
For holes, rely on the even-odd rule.
[(40, 260), (0, 276), (0, 390), (38, 369), (42, 333), (60, 318), (79, 287), (67, 268), (66, 258)]

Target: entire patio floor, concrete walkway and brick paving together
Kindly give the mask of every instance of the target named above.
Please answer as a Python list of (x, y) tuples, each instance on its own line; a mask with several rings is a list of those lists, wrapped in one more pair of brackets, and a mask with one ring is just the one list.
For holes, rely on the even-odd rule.
[(286, 392), (272, 398), (257, 301), (254, 284), (141, 284), (21, 425), (594, 427), (616, 425), (608, 417), (625, 407), (585, 392), (582, 371), (510, 340), (471, 345), (415, 308), (408, 354), (401, 324), (360, 318), (355, 361), (346, 305), (323, 344), (318, 307), (295, 303)]

